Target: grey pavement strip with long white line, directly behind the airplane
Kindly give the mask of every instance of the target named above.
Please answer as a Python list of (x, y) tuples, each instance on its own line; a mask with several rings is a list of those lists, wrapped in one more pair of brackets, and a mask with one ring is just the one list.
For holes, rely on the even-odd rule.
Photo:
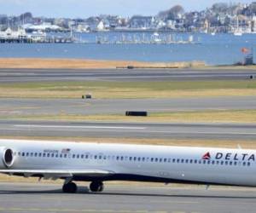
[(154, 124), (0, 120), (0, 134), (96, 138), (256, 140), (255, 124)]

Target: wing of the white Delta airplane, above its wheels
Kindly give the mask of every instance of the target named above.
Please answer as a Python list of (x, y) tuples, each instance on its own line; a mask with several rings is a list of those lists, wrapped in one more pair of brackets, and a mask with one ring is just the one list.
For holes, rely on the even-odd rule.
[(44, 179), (58, 179), (73, 176), (111, 176), (113, 171), (109, 170), (0, 170), (0, 173), (12, 175), (42, 176)]

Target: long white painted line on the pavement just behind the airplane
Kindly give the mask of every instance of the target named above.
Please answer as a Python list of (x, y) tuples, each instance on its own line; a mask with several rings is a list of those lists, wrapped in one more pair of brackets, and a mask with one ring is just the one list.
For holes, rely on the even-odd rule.
[(65, 128), (65, 129), (118, 129), (118, 130), (145, 130), (145, 127), (129, 127), (129, 126), (66, 126), (66, 125), (26, 125), (18, 124), (15, 127), (27, 128)]

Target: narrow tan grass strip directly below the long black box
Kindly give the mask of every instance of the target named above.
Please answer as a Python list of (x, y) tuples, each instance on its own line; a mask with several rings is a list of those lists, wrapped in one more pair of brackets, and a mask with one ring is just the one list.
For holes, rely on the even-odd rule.
[(256, 110), (208, 110), (191, 112), (152, 112), (148, 117), (127, 117), (124, 114), (79, 115), (61, 112), (55, 115), (0, 115), (3, 119), (47, 121), (109, 121), (170, 123), (256, 123)]

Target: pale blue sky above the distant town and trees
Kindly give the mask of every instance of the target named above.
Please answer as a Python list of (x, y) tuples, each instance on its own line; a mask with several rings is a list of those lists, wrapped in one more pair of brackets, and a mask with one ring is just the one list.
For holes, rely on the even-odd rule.
[(99, 14), (154, 15), (176, 4), (186, 11), (201, 10), (212, 3), (252, 3), (253, 0), (0, 0), (0, 14), (18, 15), (32, 12), (33, 16), (86, 18)]

